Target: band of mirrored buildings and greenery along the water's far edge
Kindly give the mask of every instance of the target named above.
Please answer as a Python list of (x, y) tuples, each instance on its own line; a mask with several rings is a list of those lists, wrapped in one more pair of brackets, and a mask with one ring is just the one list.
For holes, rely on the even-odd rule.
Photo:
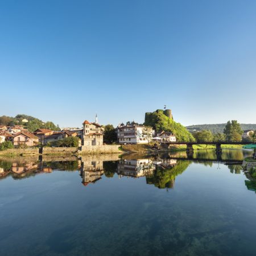
[[(174, 188), (175, 178), (182, 174), (191, 164), (201, 163), (212, 167), (218, 163), (218, 169), (224, 163), (230, 173), (241, 174), (242, 160), (250, 155), (250, 151), (224, 150), (222, 158), (218, 159), (214, 150), (194, 151), (193, 155), (186, 152), (163, 153), (159, 155), (140, 156), (124, 155), (121, 159), (114, 155), (75, 156), (63, 157), (32, 157), (32, 158), (0, 158), (0, 179), (7, 176), (13, 179), (24, 179), (37, 174), (51, 173), (52, 171), (79, 171), (81, 183), (84, 186), (94, 184), (105, 177), (146, 177), (148, 185), (156, 188)], [(248, 189), (252, 190), (254, 181), (246, 181)]]

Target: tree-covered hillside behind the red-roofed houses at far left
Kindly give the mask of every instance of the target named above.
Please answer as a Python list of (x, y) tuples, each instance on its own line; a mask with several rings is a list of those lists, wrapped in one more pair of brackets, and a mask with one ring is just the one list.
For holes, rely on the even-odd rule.
[[(27, 121), (23, 122), (26, 119)], [(36, 129), (50, 129), (54, 131), (59, 131), (60, 128), (58, 125), (55, 125), (51, 121), (43, 122), (42, 120), (31, 117), (30, 115), (18, 114), (15, 117), (7, 117), (2, 115), (0, 117), (0, 125), (14, 126), (14, 125), (23, 125), (28, 131), (35, 131)]]

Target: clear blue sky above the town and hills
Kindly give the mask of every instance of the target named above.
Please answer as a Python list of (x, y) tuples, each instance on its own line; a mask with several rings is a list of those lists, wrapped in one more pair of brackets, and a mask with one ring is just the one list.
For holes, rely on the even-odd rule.
[(256, 1), (0, 1), (0, 115), (256, 123)]

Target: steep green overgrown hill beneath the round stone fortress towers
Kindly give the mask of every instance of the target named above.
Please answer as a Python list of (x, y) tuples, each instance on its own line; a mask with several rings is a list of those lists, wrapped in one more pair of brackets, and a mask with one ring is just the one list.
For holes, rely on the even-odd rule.
[(177, 141), (194, 141), (192, 134), (180, 123), (169, 117), (164, 110), (158, 109), (155, 112), (145, 114), (144, 125), (151, 126), (156, 131), (170, 131), (176, 135)]

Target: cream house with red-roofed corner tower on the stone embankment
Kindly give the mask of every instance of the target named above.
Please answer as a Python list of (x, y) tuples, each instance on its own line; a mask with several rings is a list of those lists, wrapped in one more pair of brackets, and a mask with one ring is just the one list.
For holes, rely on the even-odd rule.
[[(97, 118), (96, 118), (97, 121)], [(101, 146), (103, 145), (104, 128), (97, 122), (90, 123), (85, 120), (82, 133), (82, 145), (83, 146)]]

